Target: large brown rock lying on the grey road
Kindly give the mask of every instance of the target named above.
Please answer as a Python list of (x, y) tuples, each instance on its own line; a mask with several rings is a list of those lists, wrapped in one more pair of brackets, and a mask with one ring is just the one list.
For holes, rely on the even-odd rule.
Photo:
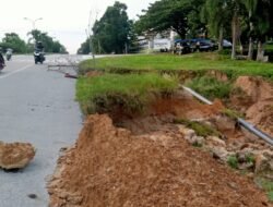
[(29, 143), (0, 142), (0, 168), (11, 170), (24, 168), (35, 156)]

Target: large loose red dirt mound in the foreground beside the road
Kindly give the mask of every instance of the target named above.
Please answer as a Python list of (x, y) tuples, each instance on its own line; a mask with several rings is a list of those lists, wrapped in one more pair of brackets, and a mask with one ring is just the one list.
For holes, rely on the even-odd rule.
[(91, 115), (48, 184), (50, 206), (262, 207), (254, 184), (189, 146), (178, 132), (133, 136)]

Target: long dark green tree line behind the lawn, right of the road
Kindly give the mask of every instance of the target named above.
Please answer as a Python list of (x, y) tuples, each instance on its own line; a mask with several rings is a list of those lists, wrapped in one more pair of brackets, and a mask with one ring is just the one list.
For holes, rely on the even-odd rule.
[(259, 60), (264, 42), (273, 37), (271, 11), (271, 0), (158, 0), (133, 22), (128, 19), (127, 5), (116, 1), (95, 22), (93, 35), (79, 53), (88, 53), (92, 48), (95, 53), (123, 53), (136, 47), (138, 35), (174, 31), (182, 39), (217, 39), (218, 50), (223, 49), (223, 39), (229, 39), (233, 59), (239, 46), (247, 46), (248, 58), (253, 58), (256, 49)]

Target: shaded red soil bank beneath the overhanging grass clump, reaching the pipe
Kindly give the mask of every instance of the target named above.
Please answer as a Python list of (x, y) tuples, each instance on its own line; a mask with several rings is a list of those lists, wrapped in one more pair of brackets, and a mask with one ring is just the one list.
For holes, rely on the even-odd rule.
[(130, 130), (133, 134), (144, 134), (162, 131), (163, 127), (174, 127), (174, 119), (210, 120), (223, 109), (219, 100), (215, 100), (211, 106), (203, 105), (180, 90), (173, 97), (154, 101), (145, 114), (133, 119), (115, 119), (115, 124)]

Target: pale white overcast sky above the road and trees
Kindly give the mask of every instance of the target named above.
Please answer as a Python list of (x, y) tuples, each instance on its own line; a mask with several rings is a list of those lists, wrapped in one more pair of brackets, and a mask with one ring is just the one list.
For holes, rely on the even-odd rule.
[[(142, 14), (141, 10), (156, 0), (119, 1), (127, 4), (129, 19), (138, 20), (136, 14)], [(0, 39), (5, 33), (16, 33), (27, 40), (26, 34), (35, 22), (36, 29), (47, 32), (70, 53), (75, 53), (86, 39), (88, 22), (93, 25), (96, 16), (99, 20), (114, 3), (115, 0), (1, 0)]]

